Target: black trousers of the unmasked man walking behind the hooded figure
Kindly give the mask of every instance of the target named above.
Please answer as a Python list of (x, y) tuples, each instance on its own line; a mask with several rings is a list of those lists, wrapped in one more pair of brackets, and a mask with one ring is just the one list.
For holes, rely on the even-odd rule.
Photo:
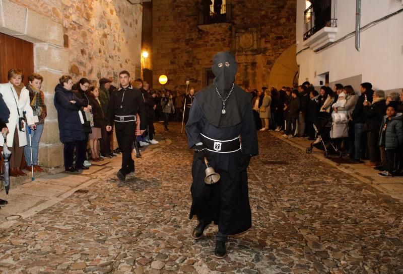
[(135, 170), (135, 161), (131, 158), (131, 145), (135, 141), (136, 122), (115, 122), (116, 139), (122, 151), (122, 168), (120, 172), (124, 175)]

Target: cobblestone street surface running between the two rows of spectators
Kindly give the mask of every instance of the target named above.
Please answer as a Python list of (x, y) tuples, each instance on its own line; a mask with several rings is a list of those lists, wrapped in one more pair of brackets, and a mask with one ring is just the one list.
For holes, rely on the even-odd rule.
[[(13, 189), (9, 201), (30, 192), (34, 205), (59, 200), (0, 229), (0, 272), (403, 273), (402, 202), (267, 133), (258, 133), (260, 155), (248, 169), (252, 228), (214, 258), (216, 226), (190, 238), (192, 152), (180, 124), (170, 129), (157, 125), (166, 140), (136, 159), (126, 182), (113, 159)], [(58, 192), (44, 199), (39, 184)], [(2, 214), (24, 203), (13, 199)]]

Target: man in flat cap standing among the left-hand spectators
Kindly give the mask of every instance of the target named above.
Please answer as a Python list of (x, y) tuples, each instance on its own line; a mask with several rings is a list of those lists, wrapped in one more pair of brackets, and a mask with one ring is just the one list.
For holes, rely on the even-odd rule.
[(99, 79), (99, 102), (101, 103), (102, 112), (104, 114), (105, 120), (103, 121), (103, 125), (101, 127), (101, 140), (100, 140), (100, 148), (101, 148), (101, 157), (102, 158), (111, 158), (114, 156), (111, 151), (111, 135), (112, 132), (107, 132), (105, 129), (106, 126), (106, 113), (108, 109), (109, 103), (109, 87), (111, 85), (111, 80), (108, 78)]

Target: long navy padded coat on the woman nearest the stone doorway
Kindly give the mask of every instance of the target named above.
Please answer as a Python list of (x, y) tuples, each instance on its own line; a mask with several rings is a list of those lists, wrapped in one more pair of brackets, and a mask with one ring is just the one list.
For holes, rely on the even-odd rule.
[[(60, 142), (69, 143), (84, 140), (83, 125), (78, 113), (81, 109), (81, 100), (61, 84), (57, 84), (54, 91), (54, 106), (57, 110)], [(76, 103), (72, 104), (70, 101), (76, 101)]]

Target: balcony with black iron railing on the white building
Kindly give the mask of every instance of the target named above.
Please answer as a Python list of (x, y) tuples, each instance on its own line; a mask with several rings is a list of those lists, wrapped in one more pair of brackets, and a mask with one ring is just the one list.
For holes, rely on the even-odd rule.
[(304, 12), (304, 41), (324, 27), (337, 27), (331, 18), (331, 0), (316, 0)]

